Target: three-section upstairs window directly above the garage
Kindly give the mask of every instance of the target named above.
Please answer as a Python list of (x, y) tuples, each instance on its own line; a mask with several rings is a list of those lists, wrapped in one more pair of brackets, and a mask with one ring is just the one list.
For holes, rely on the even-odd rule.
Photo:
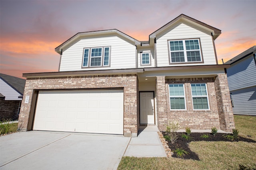
[(84, 48), (82, 67), (100, 67), (110, 64), (110, 47)]

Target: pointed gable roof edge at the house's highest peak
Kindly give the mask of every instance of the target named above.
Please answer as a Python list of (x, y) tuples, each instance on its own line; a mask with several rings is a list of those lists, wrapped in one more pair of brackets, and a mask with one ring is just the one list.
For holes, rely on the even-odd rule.
[(170, 21), (166, 25), (164, 25), (161, 28), (159, 28), (158, 30), (154, 31), (152, 34), (149, 35), (149, 38), (156, 37), (156, 35), (158, 35), (159, 33), (163, 32), (163, 31), (165, 31), (166, 29), (168, 29), (169, 27), (171, 27), (172, 25), (174, 25), (178, 21), (186, 21), (188, 23), (192, 23), (193, 25), (197, 25), (199, 27), (202, 27), (203, 29), (206, 29), (206, 30), (210, 31), (212, 33), (214, 39), (216, 39), (221, 34), (221, 30), (220, 29), (217, 29), (215, 27), (207, 25), (206, 23), (198, 21), (198, 20), (196, 20), (194, 18), (191, 18), (189, 16), (186, 16), (184, 14), (181, 14), (180, 16), (175, 18), (174, 20)]

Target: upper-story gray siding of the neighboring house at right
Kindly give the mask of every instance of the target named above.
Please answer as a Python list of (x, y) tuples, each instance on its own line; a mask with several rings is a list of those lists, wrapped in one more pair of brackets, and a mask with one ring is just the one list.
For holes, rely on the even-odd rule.
[(230, 91), (256, 86), (256, 65), (253, 55), (238, 61), (227, 69)]

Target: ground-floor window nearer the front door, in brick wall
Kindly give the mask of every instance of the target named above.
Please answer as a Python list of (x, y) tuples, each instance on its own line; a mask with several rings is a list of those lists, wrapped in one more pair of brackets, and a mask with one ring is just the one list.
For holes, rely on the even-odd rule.
[(185, 110), (184, 84), (169, 84), (170, 109)]

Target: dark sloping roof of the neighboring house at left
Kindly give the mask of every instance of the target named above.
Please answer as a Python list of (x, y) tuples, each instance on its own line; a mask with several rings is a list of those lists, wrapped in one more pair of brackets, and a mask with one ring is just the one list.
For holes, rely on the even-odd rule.
[(0, 73), (0, 78), (23, 96), (26, 80)]

